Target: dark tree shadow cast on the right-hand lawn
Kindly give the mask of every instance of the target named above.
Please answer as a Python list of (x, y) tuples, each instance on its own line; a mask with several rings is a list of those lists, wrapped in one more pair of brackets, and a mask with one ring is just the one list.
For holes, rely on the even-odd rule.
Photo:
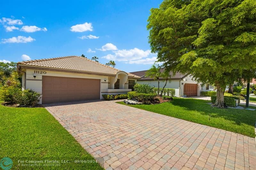
[(216, 108), (207, 104), (206, 100), (195, 99), (179, 99), (173, 100), (174, 106), (183, 107), (185, 110), (195, 110), (201, 115), (209, 115), (211, 118), (224, 118), (235, 122), (237, 125), (241, 123), (254, 126), (256, 121), (256, 113), (250, 110), (240, 110), (234, 108)]

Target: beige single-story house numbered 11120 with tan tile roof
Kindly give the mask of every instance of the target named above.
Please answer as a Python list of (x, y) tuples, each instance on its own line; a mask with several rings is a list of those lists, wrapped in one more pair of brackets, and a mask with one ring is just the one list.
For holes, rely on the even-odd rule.
[(22, 89), (42, 95), (41, 103), (102, 99), (102, 94), (132, 91), (139, 76), (80, 56), (17, 63)]

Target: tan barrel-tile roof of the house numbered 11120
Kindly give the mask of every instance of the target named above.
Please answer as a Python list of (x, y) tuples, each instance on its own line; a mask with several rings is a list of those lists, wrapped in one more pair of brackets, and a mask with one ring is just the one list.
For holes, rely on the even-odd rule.
[[(27, 66), (57, 68), (62, 70), (84, 71), (96, 74), (101, 73), (116, 75), (117, 72), (121, 71), (116, 68), (80, 56), (65, 56), (18, 62), (18, 65), (20, 64)], [(129, 77), (140, 78), (139, 76), (131, 73), (127, 74)]]

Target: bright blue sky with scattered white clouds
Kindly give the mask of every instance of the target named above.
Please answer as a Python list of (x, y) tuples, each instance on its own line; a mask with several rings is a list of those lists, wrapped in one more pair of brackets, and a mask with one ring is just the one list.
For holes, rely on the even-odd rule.
[(146, 70), (156, 60), (147, 19), (161, 2), (1, 1), (0, 60), (84, 54), (127, 72)]

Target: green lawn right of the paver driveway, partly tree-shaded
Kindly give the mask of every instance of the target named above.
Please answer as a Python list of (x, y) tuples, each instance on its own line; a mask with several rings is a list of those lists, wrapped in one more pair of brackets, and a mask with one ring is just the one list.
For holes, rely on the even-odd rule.
[[(234, 108), (220, 109), (212, 107), (207, 104), (208, 102), (210, 101), (174, 98), (171, 102), (158, 105), (128, 106), (255, 137), (256, 111)], [(124, 102), (117, 103), (125, 105)]]

